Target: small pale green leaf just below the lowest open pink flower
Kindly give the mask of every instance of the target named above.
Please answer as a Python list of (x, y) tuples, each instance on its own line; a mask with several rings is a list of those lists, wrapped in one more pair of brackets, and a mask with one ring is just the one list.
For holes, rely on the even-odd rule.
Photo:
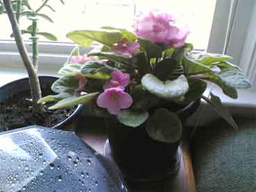
[(117, 114), (117, 119), (123, 125), (137, 128), (142, 125), (148, 119), (148, 112), (133, 112), (129, 110), (123, 110)]

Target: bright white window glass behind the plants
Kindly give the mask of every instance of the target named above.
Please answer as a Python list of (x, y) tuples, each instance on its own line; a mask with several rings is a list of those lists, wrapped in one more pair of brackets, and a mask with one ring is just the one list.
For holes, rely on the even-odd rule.
[[(38, 8), (42, 0), (30, 1), (33, 8)], [(65, 0), (49, 1), (56, 12), (44, 8), (42, 12), (49, 15), (54, 24), (43, 19), (38, 24), (40, 31), (53, 33), (60, 42), (69, 42), (65, 35), (70, 30), (117, 26), (132, 30), (133, 15), (139, 11), (155, 9), (174, 13), (191, 30), (187, 42), (192, 42), (196, 49), (206, 49), (210, 37), (212, 19), (216, 0)], [(0, 39), (10, 40), (11, 28), (7, 15), (0, 15)], [(21, 19), (21, 26), (26, 29), (30, 24), (26, 18)], [(24, 39), (29, 36), (24, 35)], [(41, 38), (42, 41), (48, 41)]]

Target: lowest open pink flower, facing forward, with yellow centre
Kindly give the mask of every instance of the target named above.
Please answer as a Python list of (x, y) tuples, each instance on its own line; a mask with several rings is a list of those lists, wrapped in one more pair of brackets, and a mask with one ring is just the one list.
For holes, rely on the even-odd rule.
[(96, 101), (99, 107), (106, 108), (110, 114), (119, 114), (133, 104), (133, 98), (119, 87), (105, 89)]

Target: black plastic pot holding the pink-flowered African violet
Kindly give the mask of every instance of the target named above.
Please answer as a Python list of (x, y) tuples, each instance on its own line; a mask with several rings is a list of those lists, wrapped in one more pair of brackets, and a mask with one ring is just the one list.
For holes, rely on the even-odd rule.
[[(199, 105), (200, 100), (194, 101), (176, 112), (182, 121), (184, 133), (187, 132), (187, 118), (196, 112)], [(155, 141), (146, 133), (144, 124), (131, 128), (117, 119), (107, 119), (106, 125), (112, 159), (128, 182), (153, 182), (178, 173), (180, 141)]]

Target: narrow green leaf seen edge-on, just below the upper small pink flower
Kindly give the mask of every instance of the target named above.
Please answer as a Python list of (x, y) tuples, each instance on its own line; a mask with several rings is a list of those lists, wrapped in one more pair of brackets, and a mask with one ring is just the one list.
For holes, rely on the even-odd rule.
[(119, 55), (117, 53), (112, 53), (112, 52), (89, 53), (88, 56), (98, 56), (101, 58), (112, 60), (114, 62), (120, 62), (123, 64), (129, 64), (131, 62), (131, 60), (128, 56)]

